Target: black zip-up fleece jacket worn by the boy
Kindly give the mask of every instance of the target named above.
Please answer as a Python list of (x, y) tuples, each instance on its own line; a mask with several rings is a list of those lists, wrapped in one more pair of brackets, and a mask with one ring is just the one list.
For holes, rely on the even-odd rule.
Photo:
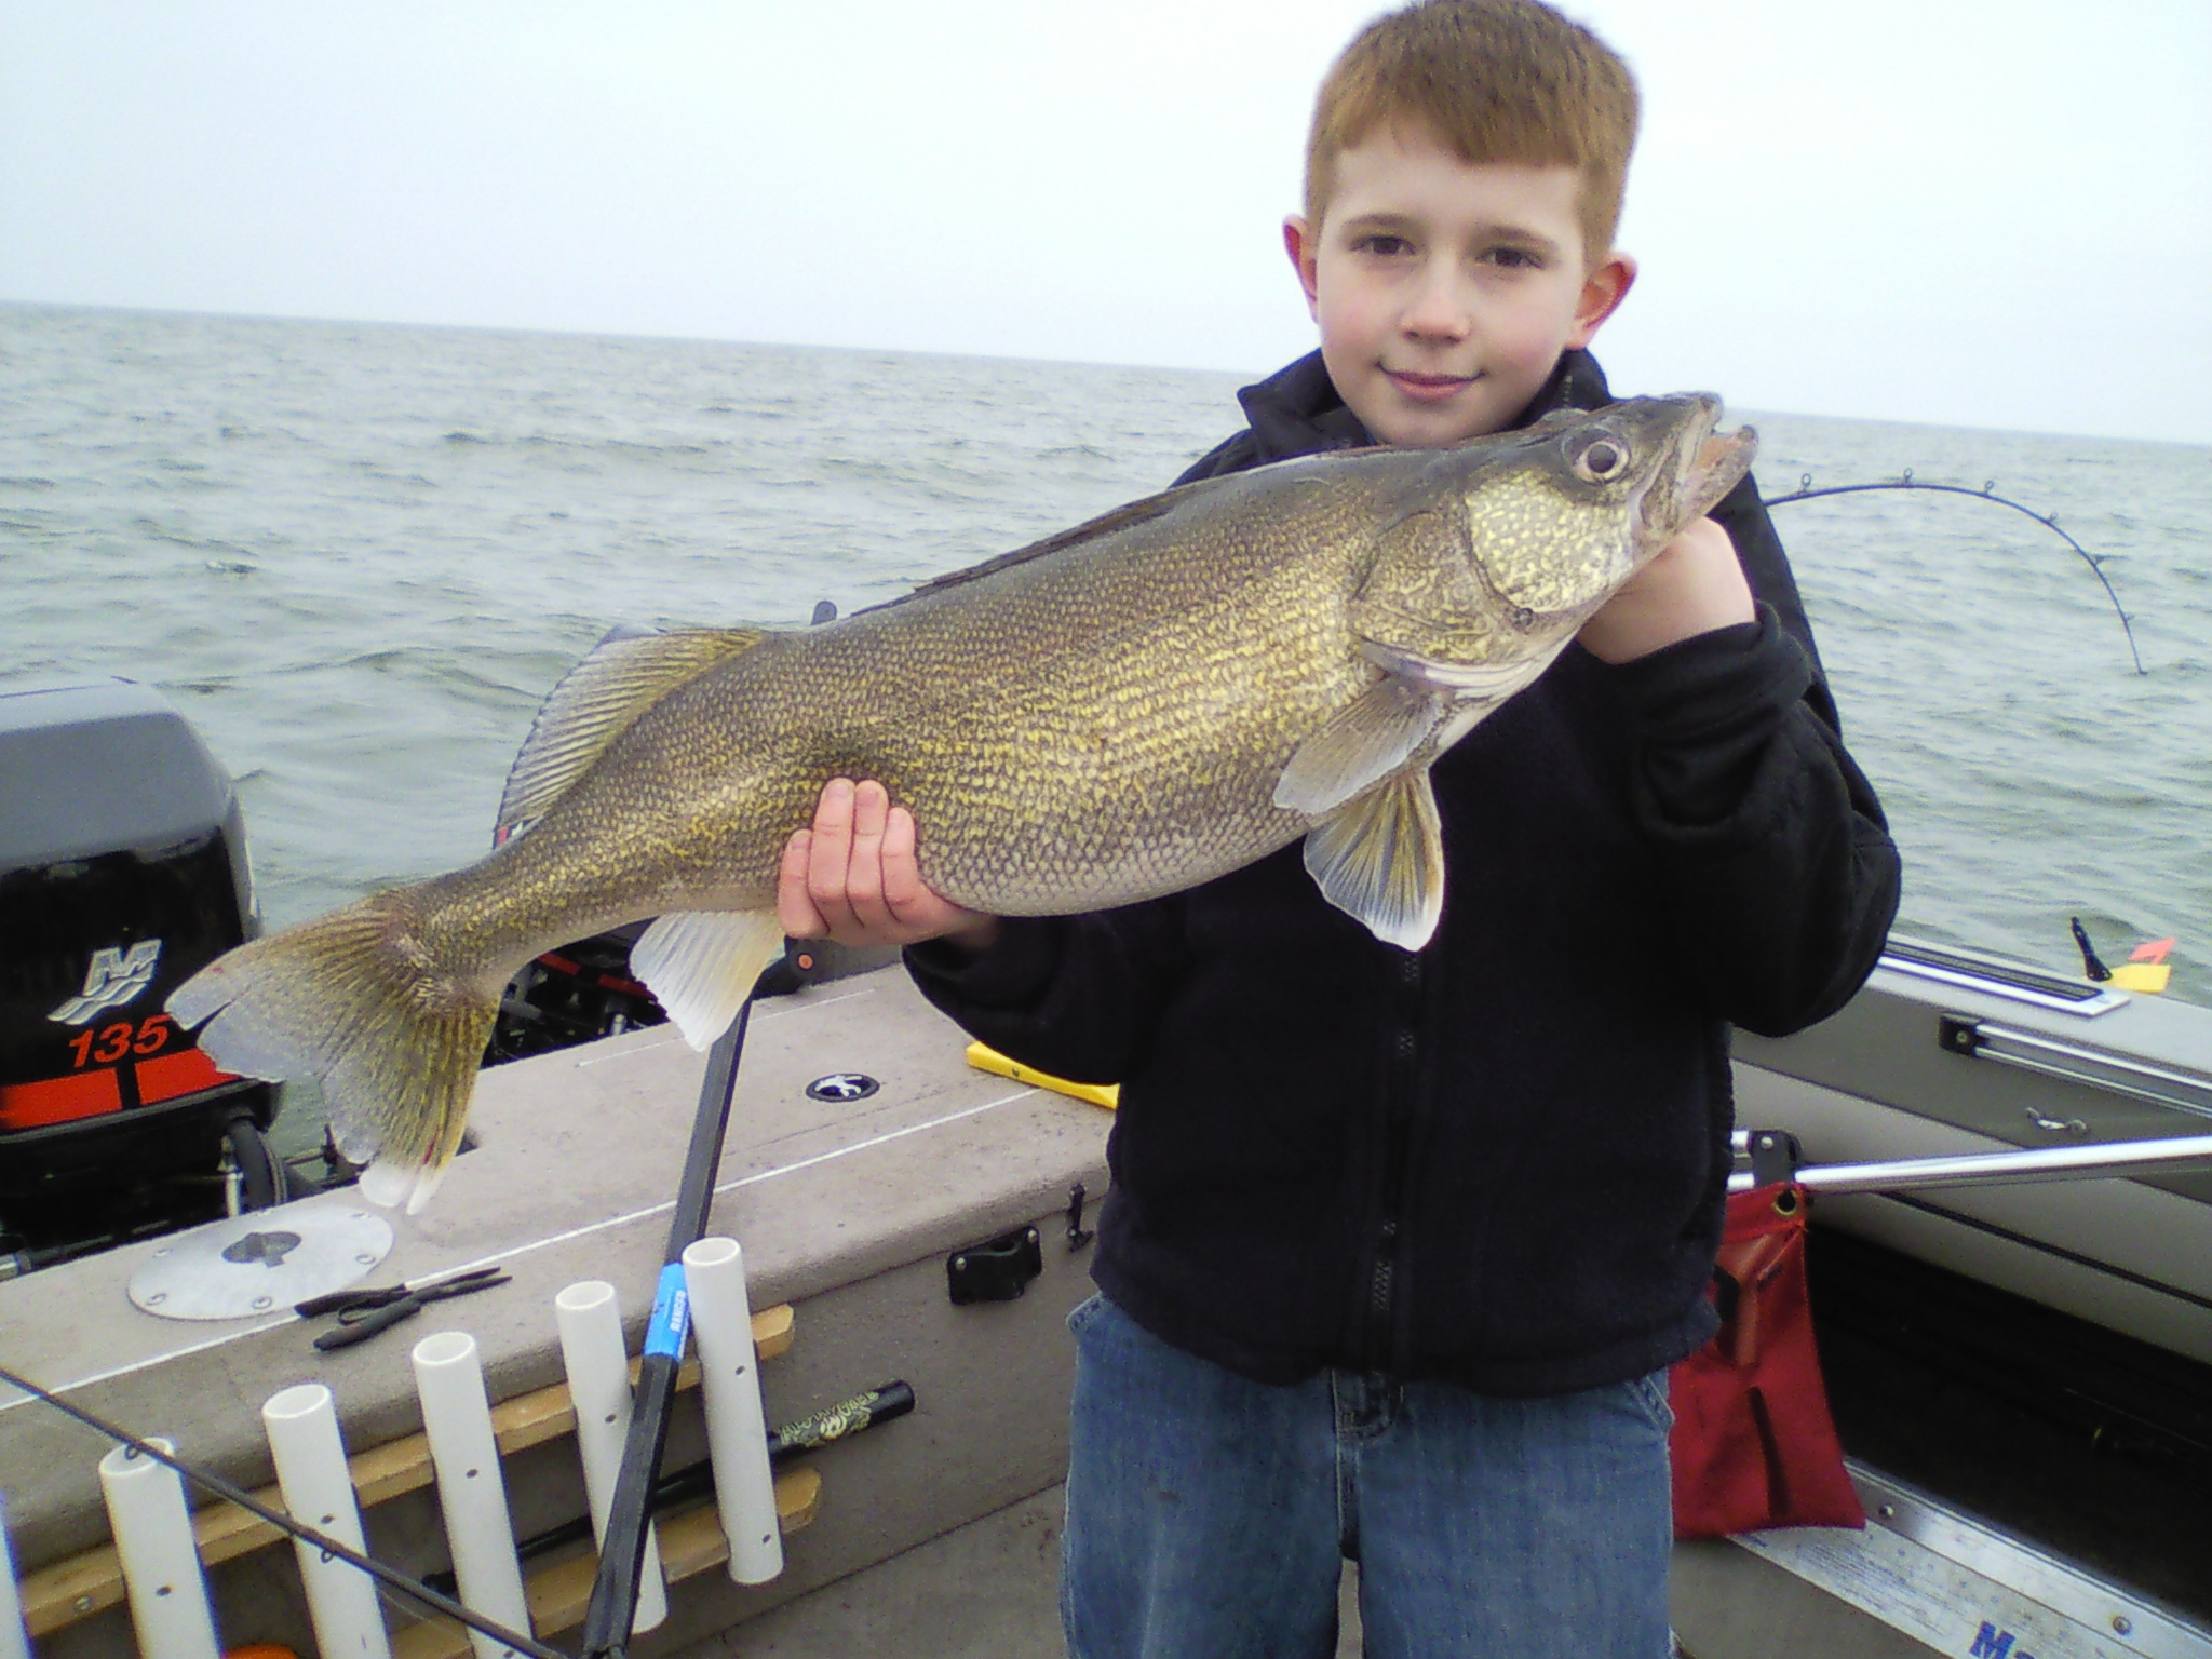
[[(1369, 442), (1321, 356), (1241, 394), (1186, 473)], [(1608, 400), (1562, 358), (1522, 414)], [(1745, 478), (1714, 518), (1759, 622), (1606, 666), (1571, 646), (1433, 768), (1444, 914), (1418, 953), (1327, 905), (1296, 845), (1186, 894), (907, 953), (1044, 1071), (1121, 1084), (1093, 1279), (1263, 1383), (1323, 1365), (1566, 1394), (1712, 1329), (1730, 1024), (1843, 1006), (1898, 856), (1845, 754)]]

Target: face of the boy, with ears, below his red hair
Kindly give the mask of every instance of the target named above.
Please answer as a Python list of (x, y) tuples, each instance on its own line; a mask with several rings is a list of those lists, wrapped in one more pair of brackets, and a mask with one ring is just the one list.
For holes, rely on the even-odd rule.
[(1336, 159), (1321, 226), (1283, 243), (1321, 325), (1321, 358), (1380, 442), (1440, 449), (1502, 431), (1588, 345), (1635, 281), (1586, 268), (1582, 175), (1462, 161), (1427, 133), (1378, 128)]

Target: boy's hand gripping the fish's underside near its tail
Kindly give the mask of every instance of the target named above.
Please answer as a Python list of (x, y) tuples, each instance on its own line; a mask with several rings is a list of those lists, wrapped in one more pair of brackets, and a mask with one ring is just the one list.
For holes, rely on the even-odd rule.
[(922, 885), (914, 863), (914, 814), (880, 783), (830, 779), (814, 827), (783, 847), (776, 920), (790, 938), (838, 945), (920, 945), (945, 938), (984, 951), (998, 918), (962, 909)]

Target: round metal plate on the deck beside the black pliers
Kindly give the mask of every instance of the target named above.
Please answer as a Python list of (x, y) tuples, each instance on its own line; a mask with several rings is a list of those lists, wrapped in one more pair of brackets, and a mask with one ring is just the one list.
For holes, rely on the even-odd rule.
[(392, 1223), (367, 1206), (254, 1210), (164, 1239), (131, 1274), (131, 1301), (161, 1318), (259, 1318), (367, 1279)]

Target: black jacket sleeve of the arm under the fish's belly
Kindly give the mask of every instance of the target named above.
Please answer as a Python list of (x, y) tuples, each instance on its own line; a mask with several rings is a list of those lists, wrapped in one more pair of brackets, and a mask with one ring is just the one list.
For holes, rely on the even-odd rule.
[(989, 951), (914, 945), (907, 971), (971, 1037), (1055, 1077), (1115, 1084), (1150, 1048), (1181, 940), (1183, 900), (1170, 894), (1091, 916), (1009, 916)]

